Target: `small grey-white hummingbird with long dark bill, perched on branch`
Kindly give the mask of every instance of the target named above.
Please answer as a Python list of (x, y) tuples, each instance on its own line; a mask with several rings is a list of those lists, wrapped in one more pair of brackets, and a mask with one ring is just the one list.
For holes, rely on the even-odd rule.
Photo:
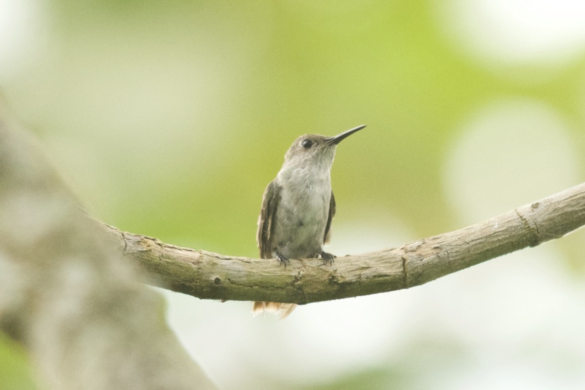
[[(337, 145), (362, 130), (354, 127), (333, 137), (305, 134), (284, 155), (284, 164), (262, 197), (256, 240), (260, 258), (277, 258), (284, 268), (288, 259), (321, 257), (332, 265), (335, 256), (323, 250), (331, 240), (335, 197), (331, 166)], [(287, 317), (295, 303), (254, 302), (252, 313), (281, 313)]]

